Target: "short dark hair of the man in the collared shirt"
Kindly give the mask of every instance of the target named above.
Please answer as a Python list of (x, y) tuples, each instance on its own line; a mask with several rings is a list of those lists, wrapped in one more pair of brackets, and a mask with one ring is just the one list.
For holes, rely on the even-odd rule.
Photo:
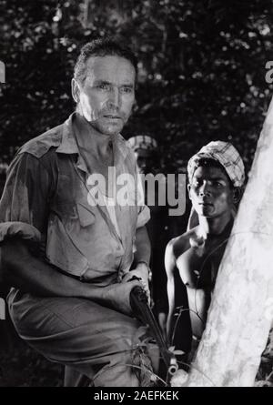
[(86, 62), (91, 56), (120, 56), (131, 62), (137, 74), (137, 59), (133, 51), (121, 41), (111, 38), (95, 39), (81, 48), (80, 55), (76, 60), (74, 78), (83, 85), (87, 76)]

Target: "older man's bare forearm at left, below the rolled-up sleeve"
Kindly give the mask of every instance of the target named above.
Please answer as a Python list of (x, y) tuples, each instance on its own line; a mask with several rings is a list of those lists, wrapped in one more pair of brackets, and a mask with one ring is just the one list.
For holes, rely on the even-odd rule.
[(131, 283), (107, 287), (83, 283), (32, 256), (25, 243), (17, 239), (7, 241), (1, 246), (1, 257), (5, 281), (17, 289), (40, 297), (92, 299), (106, 307), (130, 313)]

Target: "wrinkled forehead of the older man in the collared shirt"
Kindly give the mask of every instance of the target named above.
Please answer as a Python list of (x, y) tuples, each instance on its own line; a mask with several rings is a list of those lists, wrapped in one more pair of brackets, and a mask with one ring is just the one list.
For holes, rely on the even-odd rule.
[(135, 85), (136, 69), (122, 56), (90, 56), (86, 61), (86, 80)]

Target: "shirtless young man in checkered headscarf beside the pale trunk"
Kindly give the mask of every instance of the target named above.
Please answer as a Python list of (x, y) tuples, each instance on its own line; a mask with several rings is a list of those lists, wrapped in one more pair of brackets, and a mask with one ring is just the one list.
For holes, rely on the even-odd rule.
[(184, 291), (187, 291), (192, 329), (188, 330), (188, 338), (191, 339), (192, 335), (201, 338), (217, 270), (233, 226), (235, 204), (245, 179), (244, 164), (238, 151), (221, 141), (210, 142), (191, 157), (187, 172), (189, 198), (197, 212), (198, 225), (170, 240), (166, 249), (167, 336), (170, 344), (176, 324), (175, 294), (180, 293), (174, 282), (176, 270), (186, 286)]

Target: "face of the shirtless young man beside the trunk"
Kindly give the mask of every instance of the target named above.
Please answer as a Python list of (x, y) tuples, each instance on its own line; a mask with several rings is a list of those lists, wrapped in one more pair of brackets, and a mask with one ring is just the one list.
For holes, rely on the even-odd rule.
[(200, 216), (217, 218), (229, 214), (233, 208), (234, 191), (220, 167), (197, 167), (188, 192)]

